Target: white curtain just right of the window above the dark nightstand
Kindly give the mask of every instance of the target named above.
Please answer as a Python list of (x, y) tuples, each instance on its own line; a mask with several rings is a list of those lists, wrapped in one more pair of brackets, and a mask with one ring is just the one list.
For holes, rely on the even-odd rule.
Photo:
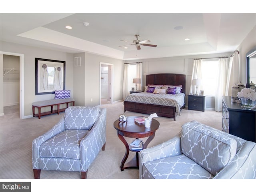
[(222, 111), (222, 96), (225, 95), (228, 74), (228, 58), (220, 58), (215, 89), (215, 111)]

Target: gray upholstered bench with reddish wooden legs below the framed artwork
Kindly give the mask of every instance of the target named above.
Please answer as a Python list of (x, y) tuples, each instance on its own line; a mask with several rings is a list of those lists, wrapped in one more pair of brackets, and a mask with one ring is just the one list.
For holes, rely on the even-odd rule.
[[(40, 119), (41, 116), (54, 114), (65, 111), (66, 108), (68, 108), (68, 104), (72, 102), (72, 105), (75, 105), (75, 100), (73, 98), (66, 98), (66, 99), (50, 99), (50, 100), (44, 100), (44, 101), (37, 101), (32, 103), (32, 111), (33, 111), (33, 117), (38, 115), (38, 118)], [(60, 109), (60, 104), (66, 104), (66, 108)], [(57, 105), (57, 110), (53, 110), (53, 106)], [(48, 107), (51, 106), (51, 111), (43, 112), (41, 113), (42, 107)], [(35, 107), (38, 108), (38, 114), (35, 114)]]

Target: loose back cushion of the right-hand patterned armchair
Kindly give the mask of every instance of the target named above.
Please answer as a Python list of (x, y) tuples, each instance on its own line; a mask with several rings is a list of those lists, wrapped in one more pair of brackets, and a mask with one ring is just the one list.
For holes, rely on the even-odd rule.
[(213, 175), (218, 174), (236, 155), (237, 142), (196, 121), (182, 125), (182, 153)]

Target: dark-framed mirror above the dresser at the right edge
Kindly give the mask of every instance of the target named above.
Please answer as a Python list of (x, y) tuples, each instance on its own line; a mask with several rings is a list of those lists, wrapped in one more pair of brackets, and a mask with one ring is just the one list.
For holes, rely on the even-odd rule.
[(256, 84), (256, 49), (250, 50), (246, 54), (246, 88), (250, 87), (250, 83)]

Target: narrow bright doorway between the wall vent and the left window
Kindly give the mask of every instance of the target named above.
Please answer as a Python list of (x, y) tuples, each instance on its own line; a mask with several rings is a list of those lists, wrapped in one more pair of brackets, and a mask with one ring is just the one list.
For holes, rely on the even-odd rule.
[(100, 105), (112, 103), (113, 64), (100, 62)]

